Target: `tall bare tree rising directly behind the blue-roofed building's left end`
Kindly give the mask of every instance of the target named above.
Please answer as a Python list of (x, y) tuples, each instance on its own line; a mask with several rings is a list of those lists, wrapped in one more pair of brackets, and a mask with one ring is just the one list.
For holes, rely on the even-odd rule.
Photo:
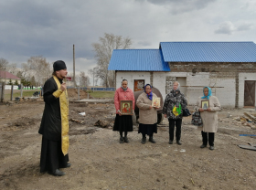
[[(126, 49), (132, 45), (132, 39), (129, 37), (123, 38), (122, 36), (114, 36), (113, 34), (104, 34), (104, 37), (100, 37), (99, 43), (93, 43), (92, 47), (96, 52), (95, 58), (97, 58), (98, 67), (96, 71), (96, 77), (101, 79), (106, 87), (113, 87), (114, 84), (114, 71), (108, 70), (110, 60), (112, 58), (113, 49)], [(93, 71), (92, 71), (93, 72)]]

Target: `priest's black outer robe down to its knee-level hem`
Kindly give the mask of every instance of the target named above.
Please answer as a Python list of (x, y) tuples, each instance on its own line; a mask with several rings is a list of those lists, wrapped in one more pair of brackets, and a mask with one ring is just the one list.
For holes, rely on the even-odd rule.
[[(61, 84), (62, 80), (59, 79), (59, 82)], [(52, 95), (53, 92), (55, 92), (56, 90), (58, 90), (58, 86), (52, 77), (48, 79), (44, 85), (45, 110), (38, 131), (44, 136), (44, 138), (51, 141), (61, 140), (61, 117), (59, 98), (55, 98)]]

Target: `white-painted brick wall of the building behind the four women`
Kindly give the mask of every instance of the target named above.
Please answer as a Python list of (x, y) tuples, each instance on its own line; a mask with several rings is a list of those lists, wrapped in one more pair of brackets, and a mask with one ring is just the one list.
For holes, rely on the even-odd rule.
[[(165, 79), (166, 76), (187, 78), (187, 86), (217, 86), (224, 88), (212, 88), (212, 94), (217, 96), (222, 107), (235, 107), (236, 89), (235, 79), (210, 79), (209, 73), (202, 72), (192, 73), (187, 72), (153, 72), (153, 86), (160, 90), (163, 99), (165, 100)], [(244, 78), (246, 80), (256, 80), (255, 74), (240, 74), (240, 96), (239, 106), (243, 107), (243, 93), (244, 93)], [(118, 71), (116, 74), (116, 88), (121, 87), (121, 81), (128, 79), (128, 87), (133, 90), (134, 79), (144, 79), (145, 84), (150, 83), (150, 72), (127, 72)], [(187, 101), (188, 105), (195, 105), (197, 98), (203, 96), (202, 87), (187, 87)]]

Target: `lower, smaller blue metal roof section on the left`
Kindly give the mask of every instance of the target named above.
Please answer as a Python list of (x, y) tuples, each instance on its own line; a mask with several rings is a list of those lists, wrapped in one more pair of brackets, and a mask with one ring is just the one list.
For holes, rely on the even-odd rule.
[(114, 49), (108, 69), (170, 71), (161, 49)]

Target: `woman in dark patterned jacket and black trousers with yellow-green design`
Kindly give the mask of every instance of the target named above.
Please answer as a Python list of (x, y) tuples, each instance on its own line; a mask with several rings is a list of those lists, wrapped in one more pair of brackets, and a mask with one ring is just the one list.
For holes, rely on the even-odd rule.
[(179, 83), (175, 81), (173, 90), (171, 90), (165, 98), (163, 113), (165, 114), (165, 118), (168, 118), (169, 121), (169, 144), (172, 144), (174, 141), (176, 126), (176, 143), (181, 145), (182, 110), (187, 108), (187, 100), (184, 94), (180, 92), (179, 86)]

